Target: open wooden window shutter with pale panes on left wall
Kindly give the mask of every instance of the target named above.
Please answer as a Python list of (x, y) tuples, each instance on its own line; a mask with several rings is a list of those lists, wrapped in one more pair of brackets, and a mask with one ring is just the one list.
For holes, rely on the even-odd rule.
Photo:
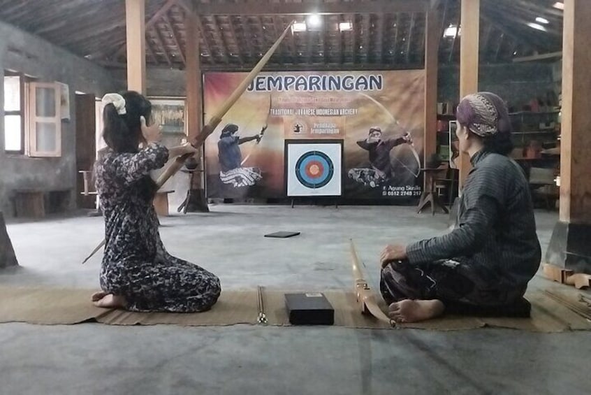
[(27, 155), (61, 156), (61, 91), (58, 84), (30, 82)]

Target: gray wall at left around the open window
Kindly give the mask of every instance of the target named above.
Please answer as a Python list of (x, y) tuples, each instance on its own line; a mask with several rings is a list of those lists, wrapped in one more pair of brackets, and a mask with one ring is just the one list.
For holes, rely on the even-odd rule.
[[(20, 71), (40, 82), (64, 82), (69, 86), (71, 120), (61, 123), (61, 157), (29, 158), (4, 152), (3, 106), (0, 106), (0, 210), (13, 215), (14, 189), (38, 187), (70, 189), (68, 208), (75, 207), (75, 91), (102, 96), (120, 89), (107, 70), (31, 34), (0, 22), (0, 76), (4, 70)], [(0, 85), (3, 103), (3, 85)]]

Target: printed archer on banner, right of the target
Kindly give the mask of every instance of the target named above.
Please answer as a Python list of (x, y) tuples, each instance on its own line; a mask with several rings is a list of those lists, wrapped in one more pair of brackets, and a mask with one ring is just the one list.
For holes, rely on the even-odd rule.
[(381, 185), (388, 183), (393, 177), (390, 151), (397, 145), (404, 143), (412, 143), (410, 134), (405, 133), (402, 136), (384, 140), (379, 127), (370, 128), (367, 138), (357, 141), (357, 145), (369, 152), (371, 167), (351, 168), (349, 178), (371, 188), (381, 187)]

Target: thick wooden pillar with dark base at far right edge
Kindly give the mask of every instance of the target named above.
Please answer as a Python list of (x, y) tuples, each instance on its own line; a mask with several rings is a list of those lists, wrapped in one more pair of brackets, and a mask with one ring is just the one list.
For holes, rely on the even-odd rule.
[(591, 274), (591, 7), (564, 1), (560, 217), (546, 262)]

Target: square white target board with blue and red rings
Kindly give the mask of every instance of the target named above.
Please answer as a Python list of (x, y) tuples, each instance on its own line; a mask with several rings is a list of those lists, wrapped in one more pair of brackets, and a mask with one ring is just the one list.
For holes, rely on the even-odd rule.
[(342, 196), (342, 141), (286, 140), (287, 196)]

